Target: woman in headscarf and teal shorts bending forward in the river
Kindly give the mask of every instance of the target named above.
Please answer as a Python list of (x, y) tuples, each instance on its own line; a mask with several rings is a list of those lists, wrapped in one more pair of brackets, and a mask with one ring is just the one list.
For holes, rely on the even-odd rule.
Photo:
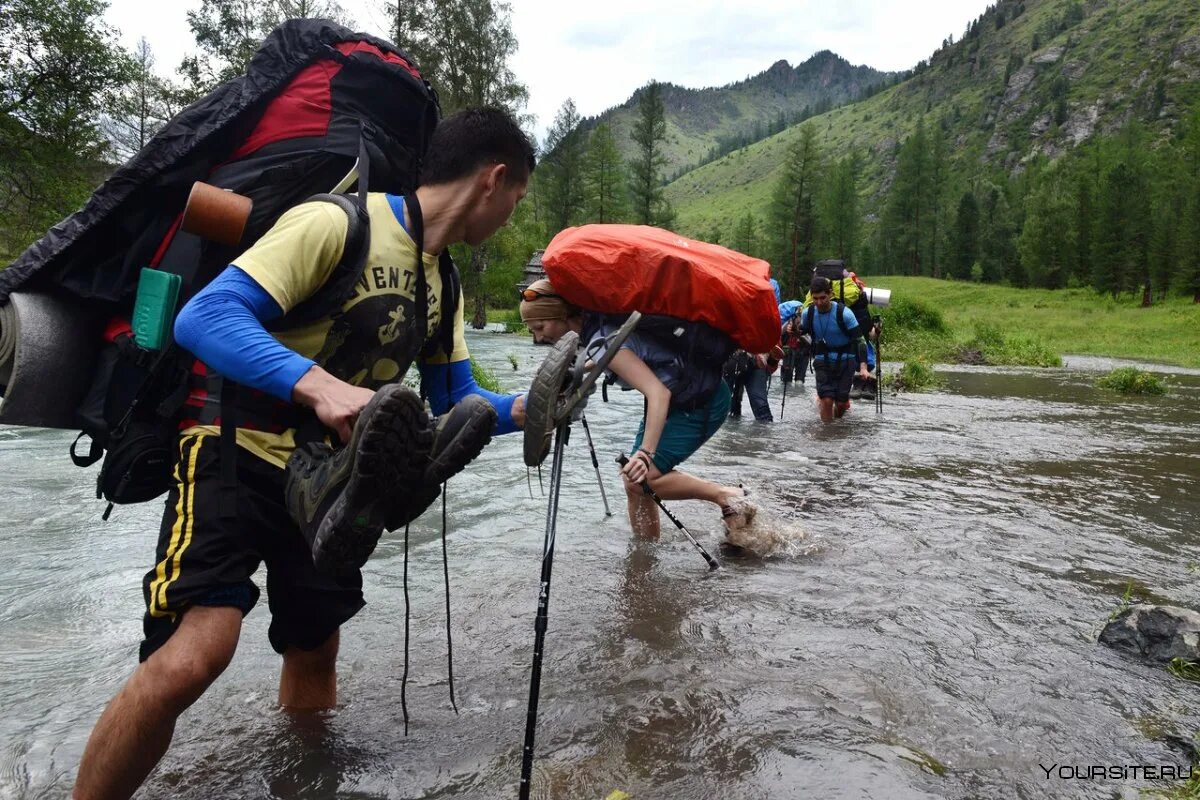
[[(587, 347), (618, 327), (602, 315), (571, 306), (546, 279), (533, 282), (523, 293), (521, 319), (534, 331), (535, 342), (547, 344), (574, 331), (580, 335), (581, 345)], [(697, 347), (700, 349), (703, 348)], [(596, 359), (601, 355), (602, 350), (593, 354)], [(734, 524), (749, 507), (740, 487), (721, 486), (677, 469), (720, 429), (730, 411), (730, 387), (720, 373), (703, 396), (683, 398), (682, 393), (674, 396), (668, 389), (682, 385), (684, 374), (695, 378), (706, 367), (712, 369), (703, 360), (686, 363), (641, 326), (625, 339), (610, 363), (610, 372), (623, 389), (637, 390), (646, 398), (632, 457), (620, 470), (629, 501), (629, 524), (640, 537), (658, 539), (660, 535), (659, 511), (642, 489), (643, 480), (649, 481), (662, 500), (707, 500), (721, 510), (724, 519), (733, 519)], [(686, 399), (683, 405), (682, 399)]]

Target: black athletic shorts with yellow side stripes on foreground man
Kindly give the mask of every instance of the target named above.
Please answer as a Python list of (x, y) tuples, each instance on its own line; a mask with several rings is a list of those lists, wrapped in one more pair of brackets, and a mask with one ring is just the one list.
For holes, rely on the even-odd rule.
[(238, 516), (221, 516), (221, 438), (179, 439), (175, 482), (158, 533), (157, 564), (142, 581), (146, 614), (140, 660), (161, 648), (191, 606), (229, 606), (250, 613), (258, 587), (250, 579), (266, 563), (276, 652), (314, 650), (366, 604), (362, 575), (318, 572), (300, 528), (283, 505), (278, 467), (238, 450)]

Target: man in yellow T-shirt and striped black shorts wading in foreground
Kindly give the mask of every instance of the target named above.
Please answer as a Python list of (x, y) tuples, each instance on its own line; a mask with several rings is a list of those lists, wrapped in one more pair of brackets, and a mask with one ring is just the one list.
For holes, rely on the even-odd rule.
[[(197, 421), (180, 437), (158, 564), (143, 584), (142, 663), (88, 740), (77, 800), (128, 798), (162, 758), (175, 720), (233, 658), (258, 601), (250, 578), (260, 561), (271, 645), (283, 656), (280, 704), (334, 708), (338, 628), (364, 606), (360, 567), (383, 529), (420, 515), (493, 428), (523, 425), (522, 397), (482, 392), (470, 379), (461, 294), (449, 297), (451, 312), (443, 284), (452, 272), (436, 253), (496, 233), (533, 168), (511, 116), (463, 112), (436, 130), (415, 196), (368, 196), (367, 265), (332, 318), (274, 337), (264, 329), (312, 296), (341, 259), (348, 217), (329, 203), (284, 213), (184, 308), (179, 343), (257, 390), (256, 402), (239, 415), (232, 464), (217, 426)], [(445, 324), (443, 312), (452, 313)], [(457, 403), (437, 421), (412, 390), (386, 383), (414, 360), (434, 411)], [(192, 401), (203, 409), (203, 395)], [(344, 446), (326, 445), (318, 420)], [(318, 433), (298, 447), (305, 428)], [(222, 468), (235, 470), (233, 513), (222, 507)]]

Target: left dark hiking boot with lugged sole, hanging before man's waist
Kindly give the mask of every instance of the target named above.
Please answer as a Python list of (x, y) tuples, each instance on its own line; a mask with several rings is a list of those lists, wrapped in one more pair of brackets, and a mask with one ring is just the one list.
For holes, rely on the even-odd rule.
[(396, 501), (407, 510), (424, 499), (408, 493), (424, 481), (432, 441), (421, 398), (403, 384), (388, 384), (359, 413), (344, 446), (296, 447), (283, 497), (318, 569), (348, 573), (366, 564), (396, 516)]

